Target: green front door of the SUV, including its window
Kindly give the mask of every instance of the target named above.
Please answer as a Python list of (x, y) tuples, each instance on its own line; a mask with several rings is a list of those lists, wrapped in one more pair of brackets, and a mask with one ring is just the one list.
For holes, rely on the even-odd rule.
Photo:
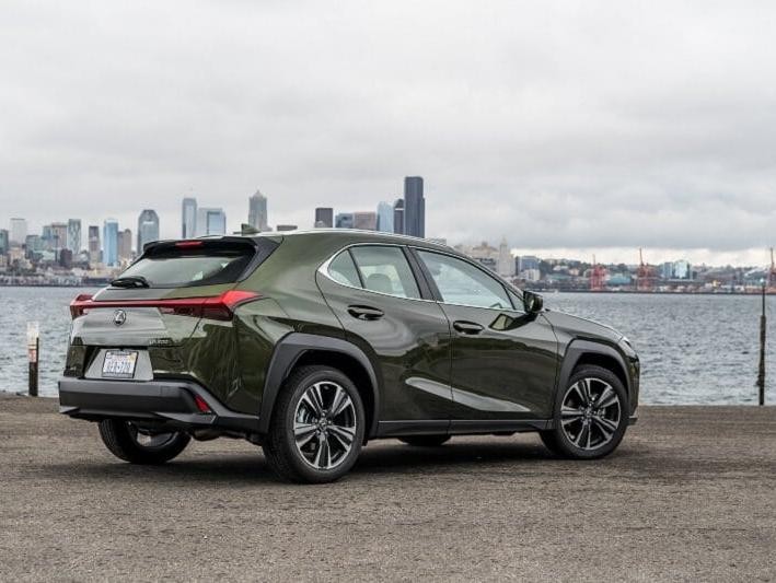
[(453, 423), (552, 417), (559, 362), (544, 317), (518, 307), (517, 294), (474, 263), (414, 253), (451, 325)]

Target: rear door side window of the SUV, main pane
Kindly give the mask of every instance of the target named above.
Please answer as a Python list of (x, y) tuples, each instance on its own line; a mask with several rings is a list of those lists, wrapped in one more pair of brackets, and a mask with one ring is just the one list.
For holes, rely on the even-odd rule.
[(364, 289), (398, 298), (420, 298), (413, 270), (399, 247), (361, 245), (351, 247), (350, 253)]

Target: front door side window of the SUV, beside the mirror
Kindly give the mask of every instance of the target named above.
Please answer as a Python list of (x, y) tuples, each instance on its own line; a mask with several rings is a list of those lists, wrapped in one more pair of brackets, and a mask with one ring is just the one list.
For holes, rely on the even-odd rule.
[(439, 253), (418, 249), (431, 272), (442, 301), (449, 304), (512, 310), (503, 285), (468, 263)]

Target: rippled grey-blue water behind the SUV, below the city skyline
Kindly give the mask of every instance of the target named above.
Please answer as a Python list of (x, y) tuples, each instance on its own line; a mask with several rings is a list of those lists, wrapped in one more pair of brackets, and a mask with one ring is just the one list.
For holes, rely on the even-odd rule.
[[(65, 366), (73, 288), (0, 288), (0, 390), (26, 390), (26, 323), (40, 323), (40, 394), (56, 395)], [(609, 324), (642, 363), (641, 403), (753, 404), (760, 296), (548, 293), (545, 305)], [(776, 296), (767, 298), (768, 348)], [(766, 401), (776, 401), (776, 353), (767, 353)]]

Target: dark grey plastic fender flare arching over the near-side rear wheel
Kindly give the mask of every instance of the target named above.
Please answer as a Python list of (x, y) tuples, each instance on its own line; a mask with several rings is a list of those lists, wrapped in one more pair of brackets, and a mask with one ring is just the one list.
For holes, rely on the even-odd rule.
[(356, 345), (335, 338), (333, 336), (318, 336), (314, 334), (291, 333), (285, 336), (275, 347), (273, 357), (267, 368), (267, 376), (262, 394), (262, 406), (258, 416), (258, 432), (266, 434), (269, 431), (269, 420), (273, 416), (275, 400), (277, 399), (283, 381), (288, 377), (299, 359), (311, 350), (337, 352), (355, 359), (367, 372), (372, 392), (372, 425), (367, 431), (367, 436), (372, 436), (378, 428), (378, 411), (380, 410), (380, 390), (378, 375), (367, 354)]

